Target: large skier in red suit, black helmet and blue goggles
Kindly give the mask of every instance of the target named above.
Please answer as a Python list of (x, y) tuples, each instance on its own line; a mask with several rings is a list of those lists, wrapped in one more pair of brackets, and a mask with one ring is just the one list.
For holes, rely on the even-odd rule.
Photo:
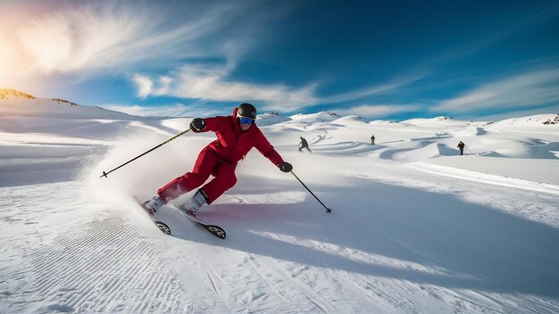
[(190, 202), (180, 206), (182, 211), (196, 217), (204, 204), (211, 204), (229, 188), (235, 186), (237, 177), (235, 169), (238, 161), (253, 147), (268, 158), (281, 171), (289, 172), (293, 167), (280, 156), (260, 128), (256, 127), (256, 108), (250, 103), (241, 103), (227, 117), (195, 118), (190, 122), (190, 129), (196, 133), (212, 131), (217, 136), (198, 154), (192, 172), (173, 179), (157, 190), (157, 195), (144, 203), (147, 211), (157, 211), (165, 203), (192, 191), (204, 184), (212, 175), (212, 181), (202, 186), (192, 196)]

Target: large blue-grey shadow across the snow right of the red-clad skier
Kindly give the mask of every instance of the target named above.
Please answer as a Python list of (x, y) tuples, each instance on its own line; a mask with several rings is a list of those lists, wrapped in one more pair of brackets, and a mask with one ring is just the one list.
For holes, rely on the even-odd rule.
[[(311, 195), (295, 204), (216, 204), (199, 217), (224, 227), (228, 239), (186, 229), (175, 236), (276, 260), (418, 284), (559, 297), (559, 230), (554, 227), (463, 202), (450, 194), (359, 180), (319, 196), (333, 209), (332, 214), (326, 214)], [(245, 186), (240, 192), (267, 193), (256, 186)], [(360, 208), (344, 208), (344, 199)], [(263, 233), (406, 260), (439, 273), (352, 260), (343, 253)]]

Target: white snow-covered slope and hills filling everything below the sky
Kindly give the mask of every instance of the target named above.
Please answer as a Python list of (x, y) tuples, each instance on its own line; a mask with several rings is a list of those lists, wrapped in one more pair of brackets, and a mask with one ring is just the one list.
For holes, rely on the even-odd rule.
[[(254, 150), (237, 185), (199, 213), (227, 230), (219, 240), (178, 211), (165, 236), (134, 201), (190, 170), (213, 134), (99, 178), (190, 119), (0, 95), (2, 313), (559, 310), (559, 124), (545, 123), (555, 114), (260, 115), (333, 212)], [(313, 153), (298, 152), (300, 136)]]

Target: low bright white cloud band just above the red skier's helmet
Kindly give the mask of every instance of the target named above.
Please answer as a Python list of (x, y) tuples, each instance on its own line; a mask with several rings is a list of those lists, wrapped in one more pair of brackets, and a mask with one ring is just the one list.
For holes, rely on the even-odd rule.
[(218, 102), (261, 101), (263, 107), (282, 105), (284, 111), (316, 103), (314, 86), (288, 87), (229, 80), (234, 65), (184, 65), (171, 75), (134, 75), (138, 96), (170, 95)]

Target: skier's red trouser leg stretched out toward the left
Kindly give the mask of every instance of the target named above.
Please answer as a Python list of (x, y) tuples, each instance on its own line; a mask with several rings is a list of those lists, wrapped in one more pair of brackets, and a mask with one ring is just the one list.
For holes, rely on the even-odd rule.
[(217, 158), (207, 148), (198, 154), (198, 159), (191, 172), (187, 172), (184, 176), (175, 178), (157, 191), (157, 194), (164, 202), (169, 202), (188, 191), (194, 190), (198, 186), (202, 186), (205, 180), (210, 177), (212, 170), (217, 164)]

